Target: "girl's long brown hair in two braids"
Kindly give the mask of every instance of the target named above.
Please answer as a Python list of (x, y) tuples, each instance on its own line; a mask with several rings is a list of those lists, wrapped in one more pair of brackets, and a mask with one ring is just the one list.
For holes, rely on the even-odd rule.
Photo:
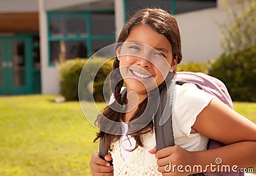
[[(143, 10), (139, 10), (136, 12), (131, 19), (129, 19), (124, 28), (122, 29), (117, 42), (125, 42), (125, 39), (131, 32), (131, 30), (135, 26), (139, 26), (141, 24), (147, 24), (150, 26), (152, 29), (157, 31), (157, 33), (164, 35), (170, 44), (172, 45), (172, 53), (173, 53), (173, 60), (177, 60), (177, 63), (180, 63), (182, 60), (182, 53), (181, 53), (181, 42), (180, 42), (180, 33), (179, 33), (179, 28), (177, 25), (176, 20), (170, 13), (161, 10), (161, 9), (152, 9), (152, 8), (145, 8)], [(122, 76), (120, 74), (119, 70), (119, 60), (115, 58), (115, 61), (113, 63), (113, 70), (115, 70), (114, 74), (110, 74), (110, 79), (111, 79), (111, 90), (113, 93), (120, 93), (121, 88), (124, 84), (124, 79), (122, 79)], [(158, 87), (159, 91), (163, 88), (165, 85), (165, 81)], [(124, 104), (126, 99), (126, 96), (124, 95), (122, 99), (115, 99), (118, 104)], [(153, 99), (153, 97), (150, 97), (150, 95), (143, 100), (138, 106), (138, 109), (135, 111), (135, 113), (132, 115), (131, 119), (129, 120), (130, 122), (132, 120), (137, 119), (141, 114), (144, 114), (143, 112), (145, 109), (149, 109), (148, 111), (154, 111), (156, 110), (155, 105), (152, 104), (152, 101), (150, 99)], [(149, 108), (148, 108), (148, 107)], [(148, 112), (147, 114), (150, 115), (152, 112)], [(109, 106), (107, 106), (101, 115), (97, 117), (96, 123), (99, 125), (104, 124), (106, 121), (104, 119), (108, 118), (109, 120), (112, 120), (114, 122), (120, 122), (122, 118), (123, 113), (119, 113)], [(106, 118), (102, 118), (102, 116)], [(113, 123), (115, 124), (115, 123)], [(139, 124), (138, 124), (139, 125)], [(132, 128), (137, 128), (138, 126), (136, 124), (129, 125), (128, 127), (128, 133), (129, 131), (133, 131)], [(108, 126), (109, 129), (115, 128), (116, 131), (120, 131), (121, 127), (118, 126)], [(153, 121), (151, 120), (143, 129), (140, 129), (139, 131), (132, 132), (130, 135), (136, 140), (136, 146), (143, 147), (143, 143), (141, 141), (141, 135), (142, 134), (147, 134), (148, 132), (152, 132), (154, 128)], [(97, 137), (95, 138), (94, 141), (96, 141), (99, 138), (105, 138), (105, 141), (108, 141), (107, 146), (110, 145), (110, 143), (118, 140), (120, 138), (120, 135), (114, 135), (114, 134), (108, 134), (104, 131), (101, 131), (97, 133)], [(134, 148), (134, 149), (135, 149)]]

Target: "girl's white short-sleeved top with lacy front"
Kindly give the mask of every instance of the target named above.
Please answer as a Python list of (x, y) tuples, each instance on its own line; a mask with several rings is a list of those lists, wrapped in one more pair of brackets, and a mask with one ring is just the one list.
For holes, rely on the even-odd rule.
[[(208, 138), (200, 133), (190, 134), (191, 126), (196, 116), (211, 102), (213, 96), (196, 88), (194, 84), (175, 86), (173, 109), (173, 136), (175, 145), (189, 151), (205, 150)], [(111, 97), (110, 102), (114, 99)], [(127, 132), (127, 124), (123, 124), (123, 132)], [(128, 140), (129, 138), (129, 140)], [(119, 141), (111, 144), (114, 175), (161, 175), (157, 171), (157, 159), (148, 150), (156, 147), (154, 132), (145, 134), (141, 138), (144, 147), (135, 146), (135, 140), (130, 136), (122, 136)]]

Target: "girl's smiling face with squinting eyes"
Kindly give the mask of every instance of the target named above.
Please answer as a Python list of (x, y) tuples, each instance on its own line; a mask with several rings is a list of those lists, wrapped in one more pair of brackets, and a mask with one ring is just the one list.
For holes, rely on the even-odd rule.
[(116, 54), (127, 90), (138, 94), (159, 86), (177, 67), (168, 39), (145, 24), (131, 30)]

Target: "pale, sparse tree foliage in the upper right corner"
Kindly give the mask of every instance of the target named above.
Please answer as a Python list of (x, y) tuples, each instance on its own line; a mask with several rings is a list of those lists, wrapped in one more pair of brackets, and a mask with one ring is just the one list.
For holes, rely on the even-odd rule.
[(228, 16), (221, 24), (222, 47), (225, 52), (236, 52), (256, 45), (256, 0), (232, 0), (232, 6), (223, 4)]

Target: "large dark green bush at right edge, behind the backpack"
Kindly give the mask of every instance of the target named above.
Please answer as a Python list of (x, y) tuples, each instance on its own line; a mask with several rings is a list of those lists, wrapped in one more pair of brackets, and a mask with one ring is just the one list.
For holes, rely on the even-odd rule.
[(256, 47), (221, 55), (209, 74), (226, 84), (233, 100), (256, 102)]

